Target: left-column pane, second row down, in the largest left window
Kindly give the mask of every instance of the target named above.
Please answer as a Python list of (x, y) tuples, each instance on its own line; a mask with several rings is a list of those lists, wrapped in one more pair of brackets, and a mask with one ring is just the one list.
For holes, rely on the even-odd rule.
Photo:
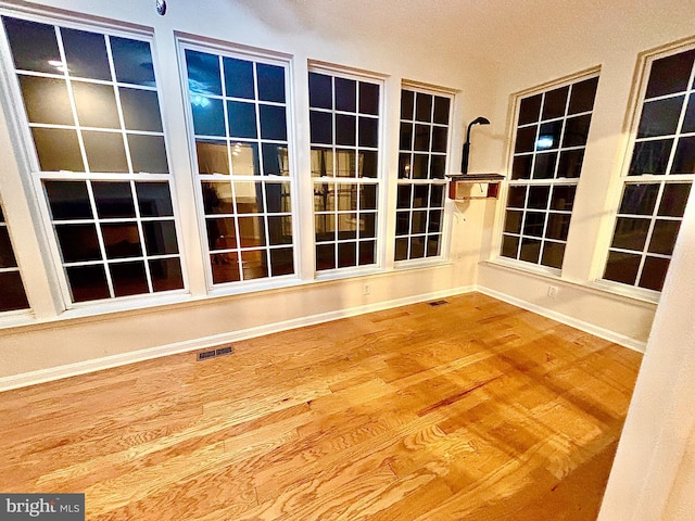
[(65, 80), (20, 76), (20, 86), (29, 123), (75, 124)]

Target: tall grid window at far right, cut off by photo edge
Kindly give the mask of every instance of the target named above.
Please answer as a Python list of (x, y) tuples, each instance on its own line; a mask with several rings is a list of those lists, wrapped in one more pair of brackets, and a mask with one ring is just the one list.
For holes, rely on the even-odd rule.
[(654, 60), (604, 279), (660, 291), (695, 174), (695, 50)]

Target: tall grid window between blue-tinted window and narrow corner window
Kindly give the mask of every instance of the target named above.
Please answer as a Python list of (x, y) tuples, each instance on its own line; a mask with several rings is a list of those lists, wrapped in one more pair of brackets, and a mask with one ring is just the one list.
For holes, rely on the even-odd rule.
[(316, 270), (375, 265), (381, 85), (312, 72), (308, 88)]

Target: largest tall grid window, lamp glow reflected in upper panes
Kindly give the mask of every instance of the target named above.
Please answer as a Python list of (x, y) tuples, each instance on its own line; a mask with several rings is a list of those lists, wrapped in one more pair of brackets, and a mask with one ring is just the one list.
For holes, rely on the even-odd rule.
[(182, 289), (150, 43), (2, 23), (70, 300)]

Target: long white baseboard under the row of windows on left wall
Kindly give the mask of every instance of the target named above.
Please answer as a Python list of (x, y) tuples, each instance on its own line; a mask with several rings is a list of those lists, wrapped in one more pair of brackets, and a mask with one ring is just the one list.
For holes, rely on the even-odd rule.
[(12, 374), (9, 377), (0, 378), (0, 392), (36, 385), (38, 383), (50, 382), (63, 378), (76, 377), (78, 374), (85, 374), (88, 372), (101, 371), (103, 369), (111, 369), (113, 367), (135, 364), (137, 361), (150, 360), (152, 358), (160, 358), (163, 356), (177, 355), (180, 353), (203, 350), (223, 343), (239, 342), (247, 339), (253, 339), (255, 336), (263, 336), (265, 334), (278, 333), (281, 331), (303, 328), (306, 326), (314, 326), (316, 323), (329, 322), (331, 320), (338, 320), (340, 318), (354, 317), (357, 315), (364, 315), (366, 313), (390, 309), (392, 307), (405, 306), (408, 304), (417, 304), (419, 302), (470, 293), (472, 291), (476, 291), (476, 287), (473, 285), (452, 288), (444, 291), (434, 291), (403, 298), (395, 298), (391, 301), (378, 302), (375, 304), (367, 304), (364, 306), (351, 307), (348, 309), (338, 309), (318, 315), (285, 320), (281, 322), (268, 323), (256, 328), (244, 329), (241, 331), (230, 331), (227, 333), (200, 338), (192, 341), (177, 342), (173, 344), (150, 347), (147, 350), (135, 351), (131, 353), (105, 356), (91, 360), (78, 361), (75, 364), (67, 364), (64, 366), (25, 372), (22, 374)]

